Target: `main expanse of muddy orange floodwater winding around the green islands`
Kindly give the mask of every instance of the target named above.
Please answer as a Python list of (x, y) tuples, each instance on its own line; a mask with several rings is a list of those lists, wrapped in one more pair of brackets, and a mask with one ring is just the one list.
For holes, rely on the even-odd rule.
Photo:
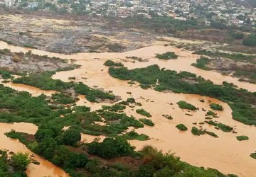
[[(6, 43), (0, 42), (1, 48), (9, 48), (12, 52), (26, 52), (28, 49), (22, 47), (14, 47), (6, 45)], [(255, 176), (256, 174), (256, 161), (250, 157), (250, 153), (256, 150), (256, 130), (253, 126), (244, 125), (232, 119), (232, 110), (228, 104), (218, 101), (214, 98), (206, 96), (198, 96), (193, 94), (181, 94), (181, 93), (162, 93), (154, 90), (143, 90), (138, 84), (130, 86), (127, 81), (120, 81), (119, 79), (112, 78), (108, 73), (108, 67), (103, 64), (107, 59), (113, 59), (117, 62), (123, 62), (124, 66), (129, 69), (146, 67), (151, 64), (158, 64), (159, 67), (165, 67), (166, 69), (173, 69), (176, 71), (187, 71), (203, 76), (205, 79), (210, 79), (215, 84), (221, 84), (223, 81), (232, 82), (240, 88), (247, 89), (249, 91), (256, 91), (254, 84), (243, 83), (238, 79), (223, 76), (216, 72), (204, 71), (191, 66), (191, 63), (196, 62), (197, 55), (193, 55), (191, 52), (183, 49), (178, 49), (174, 46), (164, 47), (163, 45), (154, 45), (149, 47), (143, 47), (138, 50), (132, 50), (122, 53), (80, 53), (74, 55), (61, 55), (50, 52), (44, 52), (41, 50), (32, 50), (33, 53), (38, 55), (48, 55), (49, 57), (60, 57), (63, 59), (76, 59), (76, 64), (81, 64), (82, 67), (68, 72), (58, 72), (53, 76), (53, 79), (61, 79), (63, 81), (69, 81), (68, 77), (75, 76), (76, 81), (81, 81), (88, 86), (98, 86), (105, 89), (105, 91), (113, 91), (114, 95), (121, 96), (123, 100), (126, 100), (130, 96), (134, 97), (137, 102), (142, 103), (142, 108), (151, 113), (151, 120), (155, 123), (154, 127), (145, 126), (144, 128), (137, 129), (136, 132), (149, 135), (151, 139), (149, 141), (139, 142), (132, 140), (132, 145), (141, 149), (145, 144), (151, 144), (163, 152), (176, 153), (181, 157), (182, 161), (186, 161), (189, 164), (195, 166), (204, 166), (214, 169), (218, 169), (223, 173), (235, 173), (239, 176)], [(164, 52), (176, 52), (178, 59), (171, 59), (163, 61), (156, 59), (154, 56), (156, 53)], [(142, 59), (148, 59), (149, 62), (132, 62), (132, 59), (126, 59), (126, 57), (142, 57)], [(33, 92), (33, 91), (32, 91)], [(132, 94), (127, 94), (131, 92)], [(202, 103), (199, 100), (204, 99)], [(178, 101), (186, 101), (192, 103), (199, 110), (190, 111), (181, 110), (176, 105)], [(230, 125), (235, 128), (237, 134), (222, 132), (216, 130), (213, 126), (204, 124), (199, 125), (199, 122), (203, 122), (205, 114), (202, 108), (210, 110), (209, 103), (218, 103), (223, 105), (224, 111), (216, 111), (219, 118), (214, 118), (218, 122), (222, 122), (225, 125)], [(84, 96), (80, 96), (78, 105), (87, 105), (96, 110), (101, 105), (107, 105), (107, 103), (90, 103), (86, 101)], [(135, 112), (139, 106), (135, 108), (129, 108), (125, 110), (127, 115), (134, 115), (136, 118), (143, 118)], [(174, 120), (167, 120), (162, 115), (171, 115)], [(192, 116), (186, 115), (190, 114)], [(197, 125), (193, 125), (197, 122)], [(183, 123), (188, 127), (188, 131), (181, 132), (175, 126), (179, 123)], [(207, 129), (210, 132), (215, 132), (218, 138), (210, 137), (209, 135), (194, 136), (191, 134), (191, 127), (201, 126), (203, 129)], [(236, 136), (247, 135), (250, 139), (247, 141), (239, 142)], [(101, 140), (104, 137), (101, 137)], [(82, 141), (91, 142), (95, 139), (94, 136), (82, 135)]]

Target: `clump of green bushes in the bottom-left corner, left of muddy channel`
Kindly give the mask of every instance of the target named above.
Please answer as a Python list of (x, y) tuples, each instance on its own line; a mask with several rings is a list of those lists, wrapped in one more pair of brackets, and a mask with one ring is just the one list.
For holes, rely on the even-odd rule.
[(28, 154), (8, 154), (7, 151), (0, 150), (0, 176), (26, 177), (25, 171), (30, 163)]

